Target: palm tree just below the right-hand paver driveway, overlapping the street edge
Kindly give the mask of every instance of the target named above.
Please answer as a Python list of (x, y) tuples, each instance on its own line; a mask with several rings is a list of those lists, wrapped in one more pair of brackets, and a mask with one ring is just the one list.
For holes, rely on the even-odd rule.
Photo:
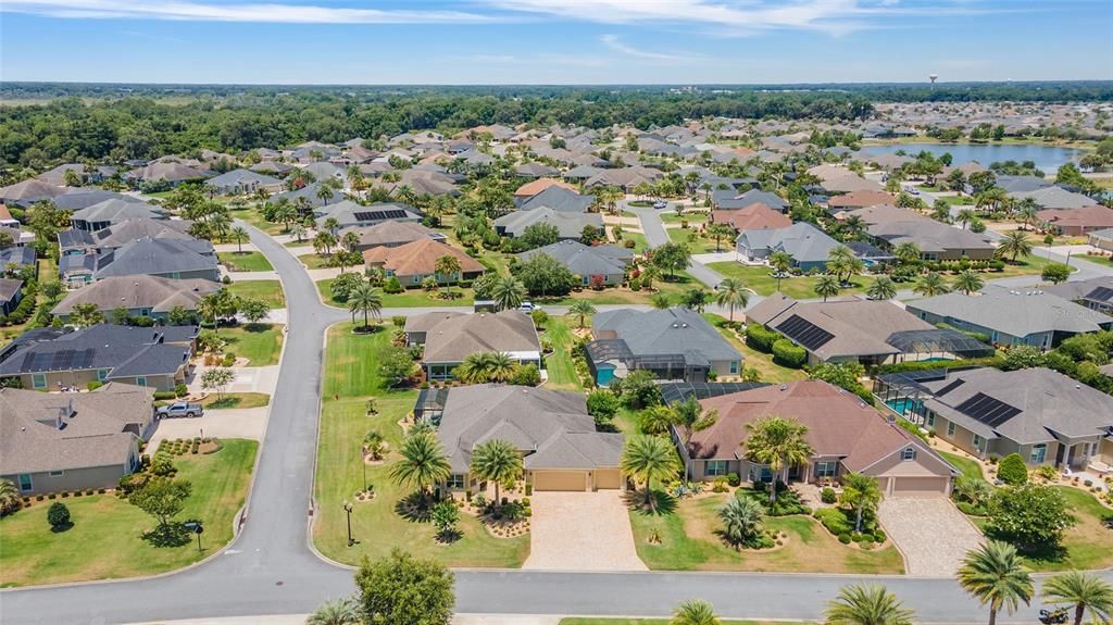
[(1028, 605), (1035, 592), (1016, 547), (999, 540), (966, 552), (958, 569), (958, 584), (982, 605), (989, 605), (989, 625), (996, 624), (1001, 608), (1012, 614), (1021, 602)]

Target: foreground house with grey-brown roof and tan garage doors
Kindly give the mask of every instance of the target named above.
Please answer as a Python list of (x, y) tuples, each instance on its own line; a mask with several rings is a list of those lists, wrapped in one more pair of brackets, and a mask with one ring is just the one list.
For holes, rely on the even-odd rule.
[(449, 390), (436, 430), (452, 465), (445, 487), (482, 487), (471, 474), (472, 453), (505, 440), (522, 454), (534, 492), (622, 490), (624, 437), (595, 430), (581, 393), (482, 384)]

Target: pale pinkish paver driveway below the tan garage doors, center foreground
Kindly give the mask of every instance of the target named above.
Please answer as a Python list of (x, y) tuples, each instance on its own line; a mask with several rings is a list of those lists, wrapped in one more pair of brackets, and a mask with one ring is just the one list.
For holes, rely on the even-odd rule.
[(648, 571), (633, 547), (622, 493), (534, 493), (530, 557), (522, 568)]

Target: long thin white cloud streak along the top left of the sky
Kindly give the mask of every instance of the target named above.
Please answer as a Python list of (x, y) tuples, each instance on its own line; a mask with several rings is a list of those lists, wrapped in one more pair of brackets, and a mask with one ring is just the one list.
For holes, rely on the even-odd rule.
[(190, 0), (4, 0), (0, 11), (79, 19), (152, 19), (269, 23), (489, 23), (499, 16), (472, 11), (362, 9)]

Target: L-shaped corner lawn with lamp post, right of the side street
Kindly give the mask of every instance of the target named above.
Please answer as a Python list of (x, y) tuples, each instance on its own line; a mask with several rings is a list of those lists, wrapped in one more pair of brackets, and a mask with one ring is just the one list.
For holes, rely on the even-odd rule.
[[(372, 335), (352, 334), (352, 324), (339, 324), (328, 331), (325, 353), (324, 401), (317, 454), (313, 539), (325, 556), (346, 564), (358, 564), (364, 556), (385, 556), (401, 547), (417, 557), (433, 557), (451, 566), (519, 567), (530, 550), (528, 535), (495, 538), (470, 514), (461, 514), (462, 538), (439, 545), (429, 523), (408, 520), (395, 512), (398, 502), (411, 494), (395, 486), (386, 475), (397, 458), (390, 454), (386, 464), (366, 467), (367, 482), (376, 496), (368, 503), (355, 503), (352, 533), (358, 543), (347, 546), (345, 500), (363, 488), (359, 442), (371, 429), (381, 431), (390, 448), (396, 450), (402, 437), (398, 421), (413, 410), (415, 390), (388, 391), (383, 388), (375, 367), (375, 354), (390, 341), (388, 328)], [(334, 399), (338, 396), (339, 399)], [(375, 397), (380, 413), (365, 415), (366, 399)]]

